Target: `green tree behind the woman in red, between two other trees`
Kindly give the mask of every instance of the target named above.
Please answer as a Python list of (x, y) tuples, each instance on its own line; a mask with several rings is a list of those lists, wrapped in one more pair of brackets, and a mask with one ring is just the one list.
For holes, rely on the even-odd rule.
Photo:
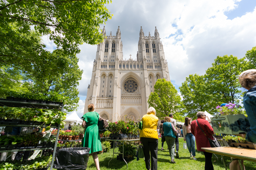
[(179, 87), (188, 117), (196, 117), (199, 111), (216, 112), (215, 96), (208, 92), (204, 76), (189, 75)]

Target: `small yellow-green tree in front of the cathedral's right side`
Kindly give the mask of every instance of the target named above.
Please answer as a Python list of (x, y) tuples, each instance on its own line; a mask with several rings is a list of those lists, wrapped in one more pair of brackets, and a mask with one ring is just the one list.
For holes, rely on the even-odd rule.
[(181, 97), (170, 81), (158, 79), (154, 85), (154, 92), (150, 93), (148, 98), (149, 107), (156, 109), (156, 116), (163, 119), (174, 114), (174, 119), (183, 121), (183, 104)]

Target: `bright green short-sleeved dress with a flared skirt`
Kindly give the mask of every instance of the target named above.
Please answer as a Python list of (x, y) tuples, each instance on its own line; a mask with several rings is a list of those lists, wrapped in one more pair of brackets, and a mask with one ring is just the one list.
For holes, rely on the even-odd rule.
[(102, 151), (98, 129), (99, 118), (100, 116), (97, 112), (87, 112), (82, 116), (82, 119), (86, 122), (82, 147), (91, 148), (90, 153)]

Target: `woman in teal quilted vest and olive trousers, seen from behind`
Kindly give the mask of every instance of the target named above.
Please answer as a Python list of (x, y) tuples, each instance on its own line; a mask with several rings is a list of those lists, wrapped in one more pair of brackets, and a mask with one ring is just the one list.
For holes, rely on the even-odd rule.
[(174, 152), (175, 152), (175, 139), (177, 130), (175, 129), (174, 125), (171, 122), (171, 119), (169, 116), (166, 116), (164, 118), (164, 123), (162, 126), (162, 131), (164, 131), (164, 139), (166, 141), (166, 144), (169, 148), (169, 154), (171, 156), (171, 162), (176, 163), (174, 161)]

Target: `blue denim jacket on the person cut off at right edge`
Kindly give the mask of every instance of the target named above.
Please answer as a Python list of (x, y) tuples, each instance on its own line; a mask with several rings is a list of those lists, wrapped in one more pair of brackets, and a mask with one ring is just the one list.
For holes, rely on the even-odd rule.
[(256, 86), (243, 95), (243, 106), (251, 126), (251, 131), (246, 134), (246, 140), (256, 143)]

